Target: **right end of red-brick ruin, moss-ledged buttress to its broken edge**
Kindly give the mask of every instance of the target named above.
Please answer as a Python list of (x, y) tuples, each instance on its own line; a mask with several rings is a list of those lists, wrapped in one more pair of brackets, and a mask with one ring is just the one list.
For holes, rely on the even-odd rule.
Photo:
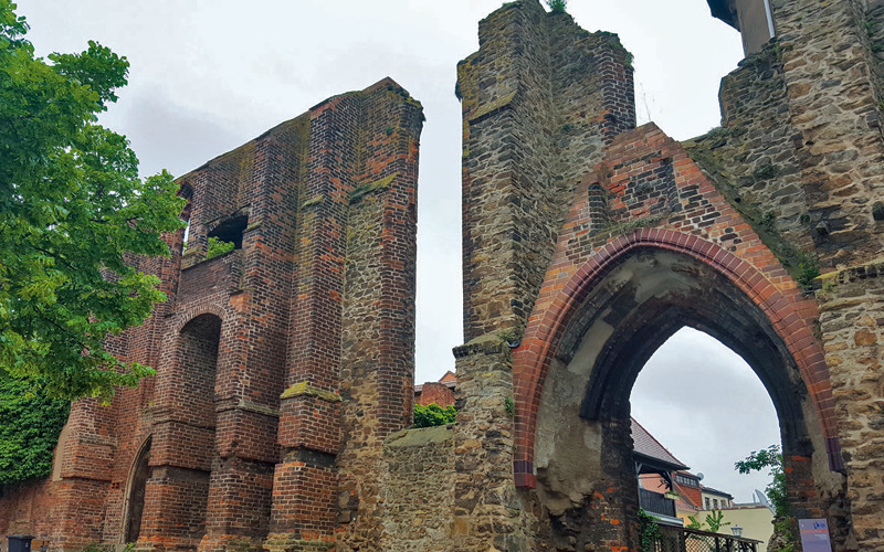
[[(354, 518), (338, 516), (340, 478), (360, 519), (371, 519), (362, 505), (378, 501), (377, 461), (358, 450), (379, 453), (410, 423), (413, 400), (420, 104), (383, 79), (309, 117), (270, 551), (334, 546), (336, 523)], [(341, 417), (357, 411), (361, 427), (348, 422), (344, 433)], [(339, 454), (344, 443), (356, 452)], [(338, 532), (377, 542), (351, 527)]]

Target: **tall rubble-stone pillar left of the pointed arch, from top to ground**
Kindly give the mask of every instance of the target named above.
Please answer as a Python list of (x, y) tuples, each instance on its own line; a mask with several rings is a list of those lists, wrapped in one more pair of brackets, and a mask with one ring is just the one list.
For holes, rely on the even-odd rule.
[[(635, 125), (631, 56), (538, 1), (480, 23), (457, 66), (463, 112), (464, 340), (455, 349), (457, 550), (533, 550), (516, 486), (512, 358), (568, 205), (602, 149)], [(525, 464), (525, 463), (522, 463)]]

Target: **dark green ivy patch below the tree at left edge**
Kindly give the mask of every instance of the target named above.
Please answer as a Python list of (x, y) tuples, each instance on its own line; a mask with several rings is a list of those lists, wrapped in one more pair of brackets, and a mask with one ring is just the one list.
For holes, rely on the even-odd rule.
[(0, 485), (46, 477), (52, 454), (71, 411), (31, 383), (0, 378)]

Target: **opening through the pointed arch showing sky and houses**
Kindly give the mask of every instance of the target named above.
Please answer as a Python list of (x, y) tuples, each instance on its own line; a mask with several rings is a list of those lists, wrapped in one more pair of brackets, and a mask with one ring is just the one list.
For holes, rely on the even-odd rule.
[[(770, 468), (744, 475), (735, 463), (782, 439), (774, 403), (743, 358), (682, 328), (642, 368), (630, 404), (639, 506), (664, 523), (688, 526), (693, 517), (703, 530), (719, 527), (712, 511), (719, 510), (718, 532), (739, 527), (768, 542), (776, 508), (755, 491), (771, 482)], [(681, 466), (667, 465), (672, 458)]]

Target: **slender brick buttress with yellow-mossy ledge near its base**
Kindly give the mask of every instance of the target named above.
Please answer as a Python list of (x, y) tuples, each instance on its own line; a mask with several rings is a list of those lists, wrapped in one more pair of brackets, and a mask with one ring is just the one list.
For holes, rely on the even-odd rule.
[(346, 200), (352, 190), (360, 113), (360, 98), (354, 94), (311, 110), (293, 330), (280, 404), (283, 456), (274, 475), (265, 544), (271, 551), (318, 550), (334, 539)]

